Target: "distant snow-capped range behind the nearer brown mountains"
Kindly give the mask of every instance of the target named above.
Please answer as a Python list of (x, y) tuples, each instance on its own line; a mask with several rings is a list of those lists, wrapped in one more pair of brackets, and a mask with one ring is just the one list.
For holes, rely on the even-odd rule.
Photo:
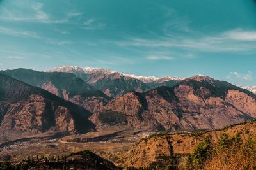
[[(102, 90), (102, 92), (109, 97), (122, 96), (122, 94), (129, 91), (145, 92), (160, 86), (172, 87), (179, 81), (185, 79), (171, 76), (161, 78), (155, 76), (136, 76), (134, 74), (120, 73), (110, 69), (79, 66), (56, 67), (50, 70), (50, 72), (73, 73), (93, 87)], [(113, 86), (115, 86), (115, 88), (113, 88)], [(256, 93), (255, 86), (237, 86)]]

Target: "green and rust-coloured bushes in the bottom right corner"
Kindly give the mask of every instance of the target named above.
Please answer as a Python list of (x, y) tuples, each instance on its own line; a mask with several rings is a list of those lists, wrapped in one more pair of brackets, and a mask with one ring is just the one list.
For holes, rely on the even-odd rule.
[(186, 169), (256, 169), (255, 155), (256, 135), (242, 140), (241, 132), (223, 133), (215, 145), (211, 138), (200, 142), (188, 155)]

